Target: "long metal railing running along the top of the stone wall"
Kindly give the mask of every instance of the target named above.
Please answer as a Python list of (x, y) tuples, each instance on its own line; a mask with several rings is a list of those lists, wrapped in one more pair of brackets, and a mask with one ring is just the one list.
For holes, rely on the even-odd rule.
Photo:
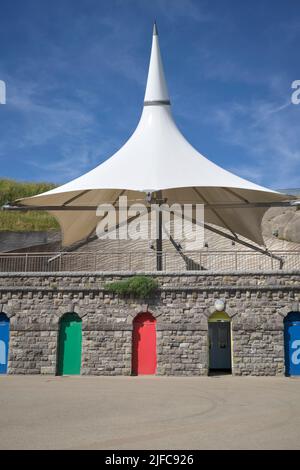
[[(167, 272), (300, 270), (300, 251), (271, 253), (281, 258), (282, 263), (250, 250), (163, 251), (161, 257), (163, 271)], [(157, 252), (153, 250), (0, 253), (0, 272), (156, 271), (156, 261)]]

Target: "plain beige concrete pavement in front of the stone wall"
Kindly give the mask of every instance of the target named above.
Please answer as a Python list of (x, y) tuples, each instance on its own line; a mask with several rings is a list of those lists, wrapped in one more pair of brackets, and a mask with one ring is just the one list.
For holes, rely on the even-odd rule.
[(300, 379), (0, 376), (0, 449), (300, 449)]

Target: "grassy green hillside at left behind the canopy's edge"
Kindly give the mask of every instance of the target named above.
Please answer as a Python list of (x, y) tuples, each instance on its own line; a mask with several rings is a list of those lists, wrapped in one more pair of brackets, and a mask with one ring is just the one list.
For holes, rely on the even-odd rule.
[[(16, 199), (34, 196), (49, 191), (55, 185), (51, 183), (23, 183), (9, 179), (0, 179), (0, 206)], [(0, 230), (11, 232), (59, 230), (54, 217), (47, 212), (6, 212), (0, 211)]]

